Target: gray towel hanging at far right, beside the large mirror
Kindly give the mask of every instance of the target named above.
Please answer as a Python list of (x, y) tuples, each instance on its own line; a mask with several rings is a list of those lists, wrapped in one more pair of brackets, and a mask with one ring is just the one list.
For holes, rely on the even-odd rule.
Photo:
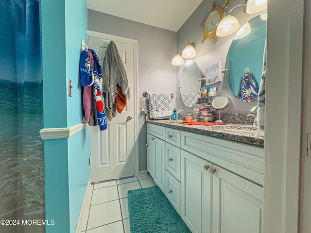
[(267, 38), (264, 45), (263, 52), (263, 67), (262, 76), (258, 92), (258, 109), (257, 109), (257, 119), (259, 129), (264, 130), (264, 119), (265, 119), (265, 98), (266, 98), (266, 63), (267, 63)]

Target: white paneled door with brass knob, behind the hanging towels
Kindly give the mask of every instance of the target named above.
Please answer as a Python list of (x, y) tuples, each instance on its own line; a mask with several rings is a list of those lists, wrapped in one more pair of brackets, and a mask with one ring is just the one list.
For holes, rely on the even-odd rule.
[[(131, 91), (131, 98), (122, 111), (108, 121), (107, 129), (100, 131), (99, 127), (90, 127), (90, 153), (91, 153), (91, 182), (105, 181), (122, 177), (133, 176), (136, 127), (135, 111), (135, 77), (136, 77), (136, 48), (134, 40), (125, 38), (118, 41), (114, 36), (101, 35), (88, 36), (89, 48), (95, 50), (101, 61), (111, 40), (115, 42), (119, 50)], [(110, 37), (110, 38), (109, 38)], [(124, 42), (125, 41), (125, 42)], [(135, 41), (134, 41), (135, 42)]]

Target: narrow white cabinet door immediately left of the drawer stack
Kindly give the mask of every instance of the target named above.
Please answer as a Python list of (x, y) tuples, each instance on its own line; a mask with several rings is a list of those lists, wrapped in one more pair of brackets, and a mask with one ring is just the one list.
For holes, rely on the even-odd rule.
[(153, 178), (162, 192), (165, 193), (165, 142), (156, 137), (153, 142), (155, 156), (155, 176)]

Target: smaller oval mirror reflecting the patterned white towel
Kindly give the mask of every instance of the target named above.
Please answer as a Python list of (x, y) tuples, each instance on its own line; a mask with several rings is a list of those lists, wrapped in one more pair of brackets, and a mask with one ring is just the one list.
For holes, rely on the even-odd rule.
[(183, 103), (191, 108), (198, 100), (201, 87), (200, 69), (195, 61), (189, 60), (185, 63), (180, 77), (180, 96)]

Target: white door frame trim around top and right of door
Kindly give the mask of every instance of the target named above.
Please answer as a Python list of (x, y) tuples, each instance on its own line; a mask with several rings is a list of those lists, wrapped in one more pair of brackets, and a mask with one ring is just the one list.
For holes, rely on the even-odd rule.
[(88, 37), (97, 37), (100, 39), (106, 40), (113, 40), (115, 42), (127, 43), (134, 46), (134, 88), (135, 88), (135, 95), (131, 95), (134, 98), (134, 175), (138, 177), (139, 175), (139, 146), (138, 146), (138, 116), (139, 116), (139, 109), (138, 109), (138, 40), (121, 37), (117, 35), (111, 35), (106, 33), (99, 33), (95, 31), (87, 30), (87, 41)]

